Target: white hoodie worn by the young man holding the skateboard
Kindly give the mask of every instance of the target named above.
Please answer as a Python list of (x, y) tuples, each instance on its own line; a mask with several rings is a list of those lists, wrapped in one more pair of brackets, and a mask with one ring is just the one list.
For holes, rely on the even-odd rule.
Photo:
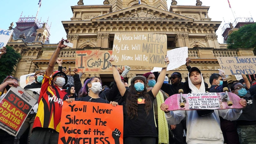
[[(191, 93), (205, 93), (202, 74), (201, 77), (202, 83), (199, 90), (188, 78)], [(187, 144), (223, 144), (224, 138), (220, 129), (219, 116), (234, 121), (241, 113), (240, 109), (227, 109), (214, 110), (210, 115), (199, 116), (196, 110), (176, 110), (166, 113), (165, 117), (169, 124), (179, 124), (183, 118), (187, 117)]]

